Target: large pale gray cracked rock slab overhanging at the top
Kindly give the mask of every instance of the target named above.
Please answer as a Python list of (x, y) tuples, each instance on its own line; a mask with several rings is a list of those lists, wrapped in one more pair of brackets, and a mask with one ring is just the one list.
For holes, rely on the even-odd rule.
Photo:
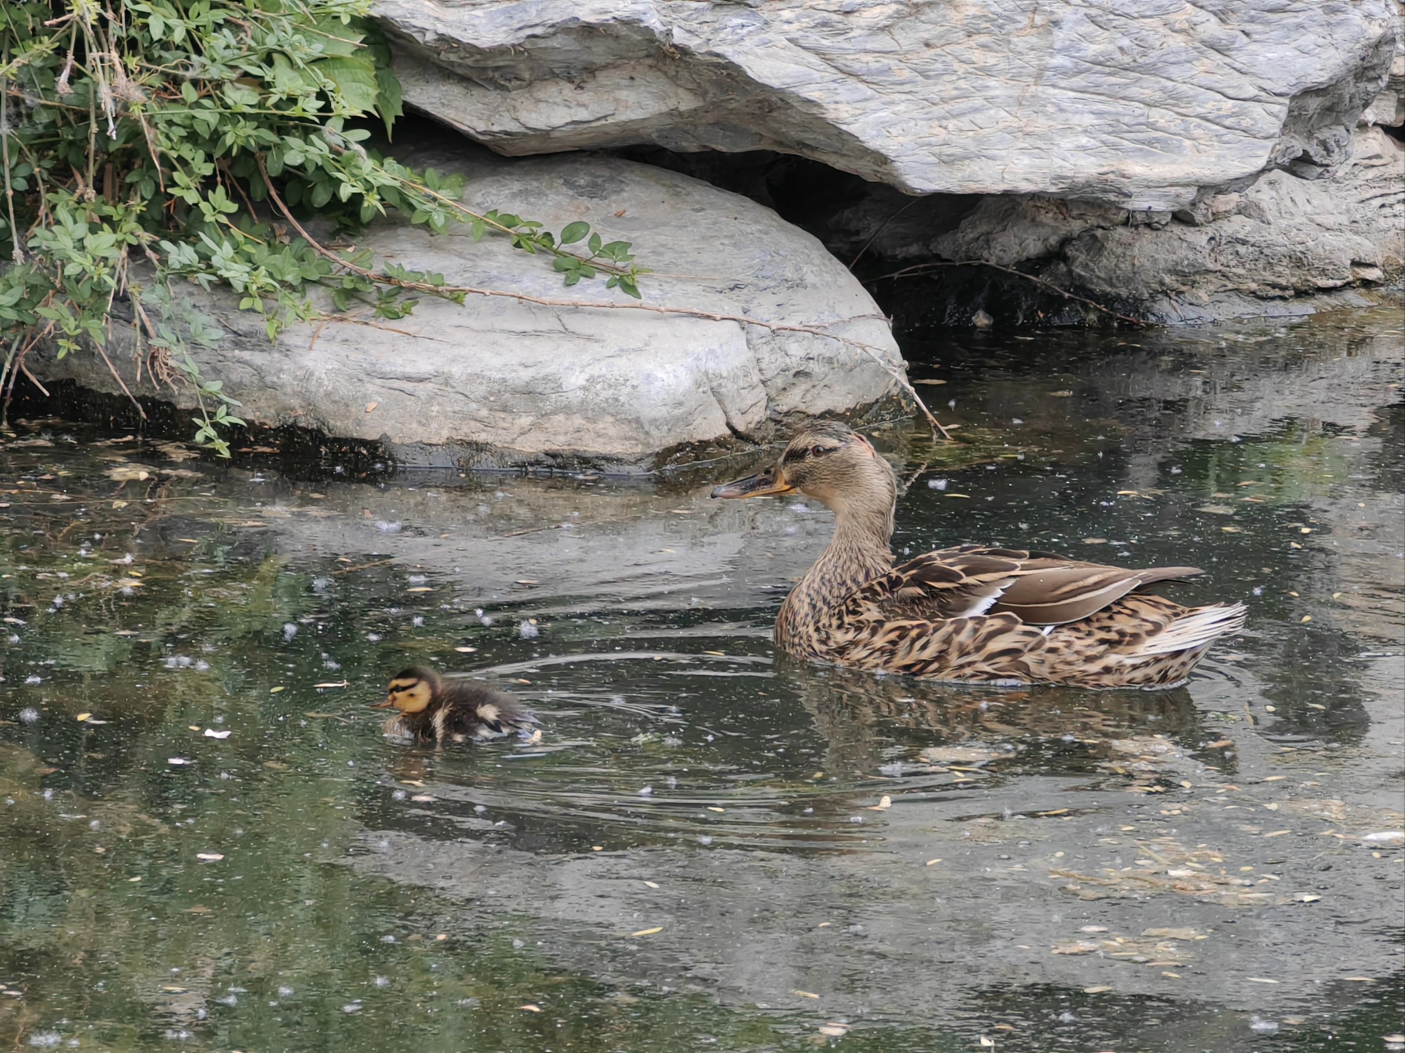
[(506, 154), (797, 153), (916, 194), (1179, 209), (1316, 176), (1392, 0), (377, 0), (406, 100)]

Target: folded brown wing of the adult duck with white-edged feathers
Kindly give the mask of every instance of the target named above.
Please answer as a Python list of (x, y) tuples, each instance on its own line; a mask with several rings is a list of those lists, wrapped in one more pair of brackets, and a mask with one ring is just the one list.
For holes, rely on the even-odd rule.
[(1127, 570), (1044, 552), (961, 545), (923, 553), (867, 581), (836, 618), (857, 625), (1013, 614), (1028, 625), (1064, 625), (1144, 585), (1201, 573), (1198, 567)]

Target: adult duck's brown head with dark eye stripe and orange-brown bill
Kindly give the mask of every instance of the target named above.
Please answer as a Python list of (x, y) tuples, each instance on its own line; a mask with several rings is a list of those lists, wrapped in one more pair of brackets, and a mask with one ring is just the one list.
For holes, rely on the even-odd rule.
[(836, 515), (878, 517), (889, 524), (898, 500), (892, 466), (874, 445), (839, 421), (802, 427), (771, 468), (719, 486), (714, 497), (766, 497), (799, 490)]

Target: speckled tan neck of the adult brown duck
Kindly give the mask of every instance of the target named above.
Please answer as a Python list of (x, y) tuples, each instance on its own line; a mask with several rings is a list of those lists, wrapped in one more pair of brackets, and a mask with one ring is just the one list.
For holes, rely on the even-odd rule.
[(781, 604), (776, 643), (784, 650), (822, 657), (819, 628), (829, 612), (865, 581), (892, 570), (892, 504), (854, 508), (836, 503), (835, 536)]

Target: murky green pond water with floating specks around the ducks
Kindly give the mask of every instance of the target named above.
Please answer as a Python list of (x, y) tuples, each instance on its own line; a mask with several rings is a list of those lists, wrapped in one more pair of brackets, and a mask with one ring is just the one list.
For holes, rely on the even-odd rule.
[[(353, 480), (28, 421), (0, 1045), (1388, 1049), (1401, 348), (1398, 310), (909, 348), (974, 441), (877, 434), (898, 548), (1198, 563), (1249, 628), (1161, 694), (774, 661), (830, 521), (708, 501), (739, 463)], [(409, 660), (542, 741), (382, 741)]]

